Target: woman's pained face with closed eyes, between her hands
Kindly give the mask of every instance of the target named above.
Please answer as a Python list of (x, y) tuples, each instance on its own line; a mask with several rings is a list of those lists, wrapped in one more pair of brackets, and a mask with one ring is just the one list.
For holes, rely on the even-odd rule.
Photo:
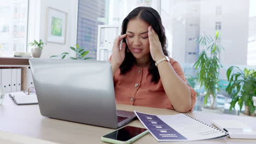
[(132, 19), (127, 24), (126, 43), (132, 55), (136, 58), (148, 58), (150, 55), (149, 23), (141, 19)]

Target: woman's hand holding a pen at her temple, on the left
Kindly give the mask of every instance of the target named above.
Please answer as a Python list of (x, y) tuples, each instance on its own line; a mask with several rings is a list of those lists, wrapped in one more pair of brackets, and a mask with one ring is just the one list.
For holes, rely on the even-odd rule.
[(112, 67), (114, 66), (117, 69), (124, 62), (126, 44), (125, 43), (121, 44), (121, 49), (120, 49), (120, 43), (121, 43), (121, 40), (123, 40), (125, 37), (126, 37), (126, 34), (119, 35), (114, 40), (111, 64), (112, 64)]

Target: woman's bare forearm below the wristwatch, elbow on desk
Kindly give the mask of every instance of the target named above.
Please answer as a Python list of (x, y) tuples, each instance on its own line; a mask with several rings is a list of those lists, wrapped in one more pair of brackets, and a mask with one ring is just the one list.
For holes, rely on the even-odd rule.
[(169, 62), (161, 62), (158, 71), (173, 108), (178, 112), (188, 112), (191, 109), (191, 93), (188, 85), (176, 74)]

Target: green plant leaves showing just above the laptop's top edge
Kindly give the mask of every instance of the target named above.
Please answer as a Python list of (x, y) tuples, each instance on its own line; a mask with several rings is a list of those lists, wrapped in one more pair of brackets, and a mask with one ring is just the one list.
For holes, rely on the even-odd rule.
[[(85, 57), (88, 53), (89, 50), (85, 50), (84, 47), (80, 47), (78, 44), (75, 45), (75, 47), (70, 47), (72, 51), (75, 52), (75, 57), (70, 57), (71, 59), (80, 59), (80, 60), (86, 60), (86, 59), (91, 59), (92, 57)], [(67, 55), (69, 55), (68, 52), (63, 52), (61, 55), (54, 55), (52, 57), (61, 57), (61, 59), (64, 59)]]

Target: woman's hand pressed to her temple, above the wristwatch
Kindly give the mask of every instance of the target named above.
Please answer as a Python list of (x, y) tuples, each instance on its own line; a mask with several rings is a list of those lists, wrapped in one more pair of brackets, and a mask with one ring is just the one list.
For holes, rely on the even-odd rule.
[(165, 55), (164, 52), (162, 51), (162, 46), (158, 34), (154, 31), (154, 29), (151, 26), (148, 27), (148, 37), (151, 56), (153, 60), (157, 62)]

